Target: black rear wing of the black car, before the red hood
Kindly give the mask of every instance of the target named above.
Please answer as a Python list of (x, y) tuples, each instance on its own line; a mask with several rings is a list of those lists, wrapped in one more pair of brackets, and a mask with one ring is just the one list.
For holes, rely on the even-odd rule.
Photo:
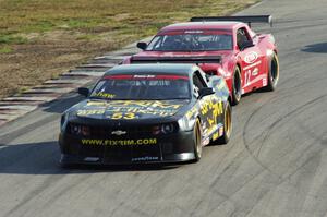
[(131, 63), (220, 63), (221, 56), (199, 57), (135, 57), (132, 56)]

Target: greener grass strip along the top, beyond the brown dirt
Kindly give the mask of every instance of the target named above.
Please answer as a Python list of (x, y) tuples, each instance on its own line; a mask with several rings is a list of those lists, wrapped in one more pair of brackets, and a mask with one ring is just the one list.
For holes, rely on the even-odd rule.
[[(0, 0), (0, 43), (24, 41), (15, 34), (55, 29), (96, 34), (132, 32), (133, 38), (155, 34), (171, 22), (193, 14), (232, 13), (257, 0)], [(160, 10), (158, 10), (160, 9)], [(9, 37), (8, 39), (2, 39)]]

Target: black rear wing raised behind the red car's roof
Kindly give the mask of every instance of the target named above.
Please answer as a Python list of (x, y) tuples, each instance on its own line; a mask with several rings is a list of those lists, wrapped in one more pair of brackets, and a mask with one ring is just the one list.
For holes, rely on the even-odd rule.
[(251, 23), (269, 23), (272, 27), (271, 15), (249, 15), (249, 16), (196, 16), (190, 20), (191, 22), (214, 22), (214, 21), (238, 21), (247, 23), (251, 27)]

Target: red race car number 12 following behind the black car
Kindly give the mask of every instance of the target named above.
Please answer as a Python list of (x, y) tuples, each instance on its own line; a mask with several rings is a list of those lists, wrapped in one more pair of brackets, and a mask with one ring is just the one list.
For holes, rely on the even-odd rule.
[(251, 23), (269, 23), (270, 15), (192, 17), (161, 28), (149, 44), (123, 61), (131, 63), (196, 63), (208, 75), (222, 75), (232, 105), (241, 95), (265, 87), (274, 91), (279, 79), (277, 46), (271, 34), (256, 34)]

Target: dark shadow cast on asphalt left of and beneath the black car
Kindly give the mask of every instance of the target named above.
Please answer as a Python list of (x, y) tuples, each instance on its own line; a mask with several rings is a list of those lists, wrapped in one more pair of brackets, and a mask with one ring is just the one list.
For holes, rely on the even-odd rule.
[(62, 168), (59, 164), (58, 142), (4, 145), (0, 144), (0, 174), (69, 174), (95, 172), (124, 172), (168, 170), (180, 165), (134, 166), (74, 166)]

